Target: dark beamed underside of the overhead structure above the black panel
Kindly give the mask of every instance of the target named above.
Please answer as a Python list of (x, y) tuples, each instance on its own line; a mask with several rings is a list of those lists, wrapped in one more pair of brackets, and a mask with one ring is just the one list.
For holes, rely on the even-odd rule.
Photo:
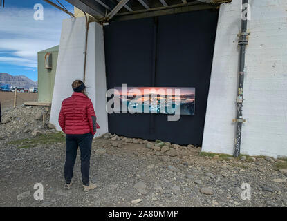
[(232, 0), (66, 0), (100, 23), (219, 8)]

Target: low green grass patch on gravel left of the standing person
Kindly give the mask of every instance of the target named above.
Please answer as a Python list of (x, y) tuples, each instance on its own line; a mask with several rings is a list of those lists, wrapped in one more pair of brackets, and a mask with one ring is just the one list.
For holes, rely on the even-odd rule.
[(17, 145), (17, 148), (31, 148), (34, 146), (39, 146), (41, 144), (55, 144), (62, 142), (65, 142), (64, 134), (58, 132), (58, 133), (43, 134), (38, 137), (33, 137), (30, 139), (13, 140), (10, 142), (10, 144)]

